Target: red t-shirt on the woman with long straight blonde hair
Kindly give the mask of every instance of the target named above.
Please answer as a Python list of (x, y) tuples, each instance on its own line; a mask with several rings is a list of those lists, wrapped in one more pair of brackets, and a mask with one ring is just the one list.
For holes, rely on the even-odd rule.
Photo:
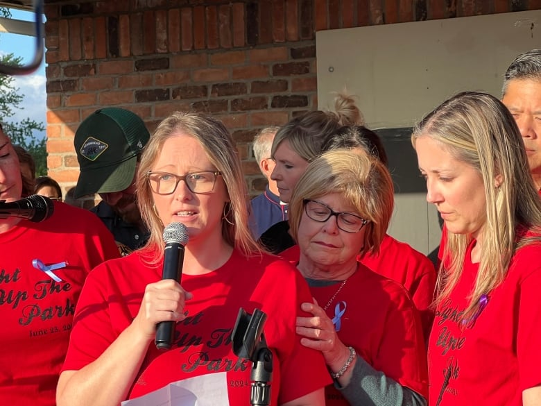
[(467, 250), (461, 280), (438, 305), (429, 339), (429, 405), (522, 406), (541, 383), (541, 244), (519, 249), (479, 316), (461, 328), (479, 264)]

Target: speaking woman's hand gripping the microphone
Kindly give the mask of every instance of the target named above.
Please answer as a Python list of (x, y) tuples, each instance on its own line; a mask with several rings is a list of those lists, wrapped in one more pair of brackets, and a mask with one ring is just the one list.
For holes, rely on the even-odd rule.
[(132, 325), (147, 339), (154, 339), (160, 321), (182, 321), (185, 301), (191, 294), (176, 280), (166, 279), (146, 285), (145, 294)]

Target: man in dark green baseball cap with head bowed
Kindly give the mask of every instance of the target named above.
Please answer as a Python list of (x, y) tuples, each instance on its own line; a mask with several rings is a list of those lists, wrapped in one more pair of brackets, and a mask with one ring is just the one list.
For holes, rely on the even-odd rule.
[(123, 255), (148, 239), (135, 200), (135, 175), (149, 138), (143, 120), (123, 108), (96, 110), (75, 133), (80, 174), (74, 198), (100, 195), (102, 201), (91, 211), (112, 232)]

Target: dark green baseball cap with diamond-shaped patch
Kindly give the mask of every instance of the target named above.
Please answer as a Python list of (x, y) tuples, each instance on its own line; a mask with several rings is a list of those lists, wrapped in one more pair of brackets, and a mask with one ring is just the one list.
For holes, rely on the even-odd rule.
[(150, 137), (143, 120), (123, 108), (101, 108), (87, 117), (74, 137), (80, 170), (74, 198), (127, 189)]

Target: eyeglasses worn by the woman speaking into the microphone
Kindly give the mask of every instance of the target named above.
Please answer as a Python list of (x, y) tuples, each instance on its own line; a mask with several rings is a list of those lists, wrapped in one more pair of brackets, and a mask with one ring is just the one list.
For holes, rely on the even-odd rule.
[(169, 172), (148, 171), (146, 178), (155, 194), (172, 194), (177, 189), (180, 180), (184, 180), (190, 192), (203, 194), (214, 190), (216, 176), (221, 174), (220, 171), (200, 171), (180, 176)]

